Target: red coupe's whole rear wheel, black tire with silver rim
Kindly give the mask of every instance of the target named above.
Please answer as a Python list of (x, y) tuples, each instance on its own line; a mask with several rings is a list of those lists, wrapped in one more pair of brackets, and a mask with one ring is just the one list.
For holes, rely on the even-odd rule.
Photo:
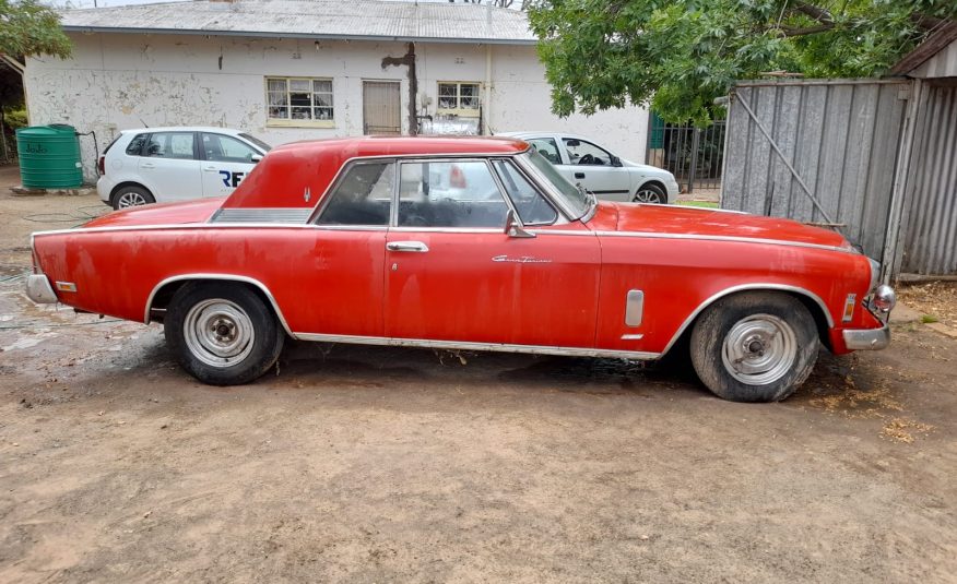
[(169, 301), (163, 325), (182, 368), (211, 385), (259, 378), (275, 365), (285, 343), (272, 309), (235, 282), (186, 284)]

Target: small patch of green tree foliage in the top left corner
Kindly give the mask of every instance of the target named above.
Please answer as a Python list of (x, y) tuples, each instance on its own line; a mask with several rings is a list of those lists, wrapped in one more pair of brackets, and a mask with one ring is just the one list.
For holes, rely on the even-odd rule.
[(0, 0), (0, 53), (69, 57), (71, 48), (52, 9), (38, 0)]

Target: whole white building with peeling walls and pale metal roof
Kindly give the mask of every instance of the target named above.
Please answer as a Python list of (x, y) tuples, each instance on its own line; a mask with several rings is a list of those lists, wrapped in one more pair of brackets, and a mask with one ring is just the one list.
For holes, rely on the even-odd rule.
[[(95, 131), (101, 148), (119, 130), (144, 124), (231, 127), (274, 145), (364, 133), (555, 130), (645, 157), (642, 108), (566, 119), (551, 112), (535, 37), (519, 11), (196, 0), (71, 10), (62, 24), (72, 58), (26, 63), (31, 123)], [(94, 145), (81, 143), (88, 180)]]

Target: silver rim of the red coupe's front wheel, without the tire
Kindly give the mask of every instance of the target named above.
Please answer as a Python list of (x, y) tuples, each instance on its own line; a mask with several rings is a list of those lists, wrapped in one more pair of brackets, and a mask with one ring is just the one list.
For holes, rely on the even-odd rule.
[(721, 360), (728, 373), (748, 385), (767, 385), (788, 374), (798, 360), (798, 335), (772, 314), (741, 319), (724, 335)]

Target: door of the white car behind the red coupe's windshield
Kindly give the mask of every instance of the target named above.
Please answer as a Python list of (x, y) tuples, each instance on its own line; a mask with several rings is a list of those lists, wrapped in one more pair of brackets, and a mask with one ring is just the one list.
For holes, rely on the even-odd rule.
[[(578, 138), (563, 136), (563, 163), (558, 170), (572, 183), (581, 183), (599, 199), (630, 201), (631, 178), (628, 169), (616, 166), (609, 151)], [(621, 164), (621, 163), (618, 163)]]

